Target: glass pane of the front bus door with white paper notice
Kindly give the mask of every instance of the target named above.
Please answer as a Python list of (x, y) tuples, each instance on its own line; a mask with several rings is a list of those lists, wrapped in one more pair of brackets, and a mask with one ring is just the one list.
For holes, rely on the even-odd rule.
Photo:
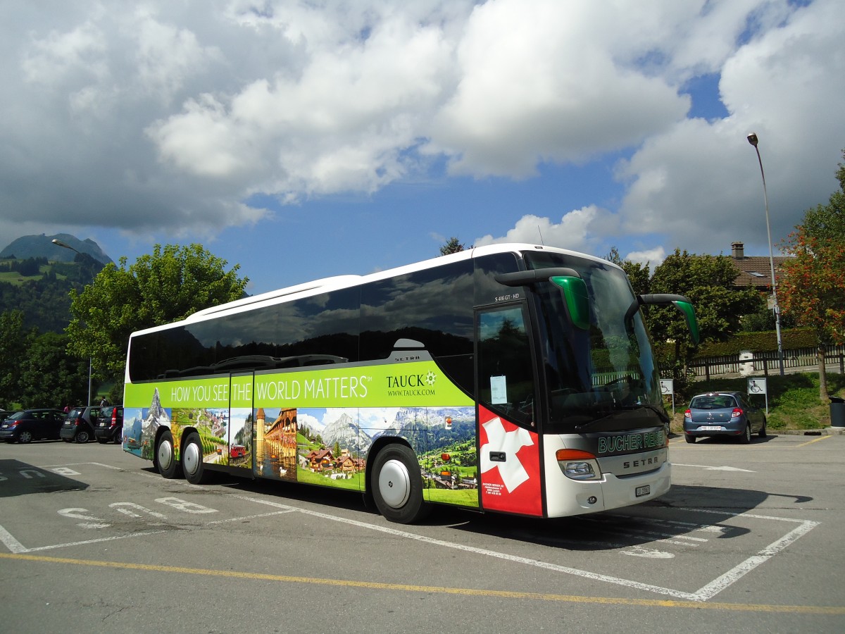
[(478, 401), (509, 420), (534, 423), (534, 373), (520, 305), (478, 313)]

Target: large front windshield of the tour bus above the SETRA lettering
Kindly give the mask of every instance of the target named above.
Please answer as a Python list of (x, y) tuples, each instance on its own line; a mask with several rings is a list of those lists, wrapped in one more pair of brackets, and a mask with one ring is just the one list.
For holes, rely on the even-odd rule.
[[(628, 278), (607, 262), (553, 253), (526, 254), (530, 268), (569, 267), (586, 282), (590, 324), (572, 324), (563, 294), (534, 287), (548, 418), (546, 433), (592, 433), (668, 422), (646, 325)], [(627, 316), (626, 316), (627, 315)]]

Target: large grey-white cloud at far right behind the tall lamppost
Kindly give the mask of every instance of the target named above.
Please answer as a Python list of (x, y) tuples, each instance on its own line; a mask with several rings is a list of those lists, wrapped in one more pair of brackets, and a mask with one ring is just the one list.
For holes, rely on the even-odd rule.
[[(752, 131), (760, 138), (773, 236), (786, 236), (805, 209), (836, 189), (833, 172), (845, 146), (845, 119), (837, 113), (845, 86), (833, 79), (845, 73), (841, 8), (824, 0), (803, 8), (730, 4), (713, 3), (686, 41), (668, 37), (676, 57), (666, 63), (666, 76), (679, 79), (694, 68), (717, 70), (728, 117), (678, 118), (617, 166), (624, 199), (608, 217), (613, 226), (599, 228), (605, 246), (619, 235), (651, 240), (632, 260), (662, 260), (675, 247), (729, 253), (734, 240), (767, 250), (760, 167), (746, 140)], [(716, 54), (701, 41), (695, 56), (690, 40), (713, 30), (713, 13), (730, 14), (726, 32), (747, 41), (728, 46), (717, 38)], [(526, 216), (515, 227), (526, 219), (536, 223)], [(586, 227), (583, 243), (598, 237), (596, 228)]]

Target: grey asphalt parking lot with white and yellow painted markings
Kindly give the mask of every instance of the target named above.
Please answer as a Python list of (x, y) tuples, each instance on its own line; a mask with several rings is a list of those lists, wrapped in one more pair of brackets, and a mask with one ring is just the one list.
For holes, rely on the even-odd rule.
[(0, 445), (4, 631), (845, 631), (845, 436), (670, 442), (673, 488), (536, 521)]

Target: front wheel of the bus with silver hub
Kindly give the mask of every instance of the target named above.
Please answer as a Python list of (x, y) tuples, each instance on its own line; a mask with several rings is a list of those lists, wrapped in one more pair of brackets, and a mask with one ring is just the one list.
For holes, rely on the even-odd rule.
[(423, 501), (423, 475), (410, 447), (387, 445), (375, 456), (370, 476), (373, 500), (390, 522), (410, 524), (427, 516), (430, 506)]

